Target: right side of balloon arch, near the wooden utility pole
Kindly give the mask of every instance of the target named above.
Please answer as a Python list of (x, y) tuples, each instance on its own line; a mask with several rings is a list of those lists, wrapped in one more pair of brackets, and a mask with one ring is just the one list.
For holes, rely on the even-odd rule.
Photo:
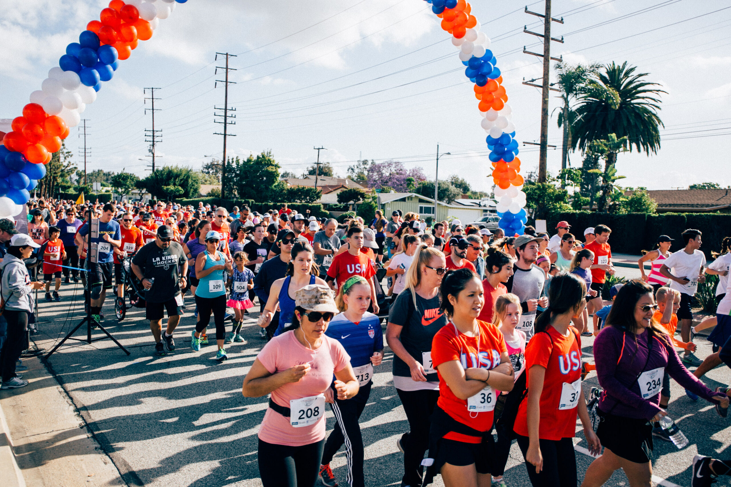
[(465, 0), (426, 1), (437, 17), (442, 18), (442, 29), (452, 34), (452, 45), (459, 47), (460, 61), (466, 66), (464, 74), (474, 83), (474, 96), (480, 100), (477, 105), (482, 115), (480, 126), (488, 133), (486, 142), (496, 185), (494, 193), (499, 199), (499, 226), (507, 235), (522, 234), (528, 216), (517, 157), (518, 141), (498, 61), (490, 50), (490, 38), (480, 32), (480, 22), (471, 15), (471, 6)]

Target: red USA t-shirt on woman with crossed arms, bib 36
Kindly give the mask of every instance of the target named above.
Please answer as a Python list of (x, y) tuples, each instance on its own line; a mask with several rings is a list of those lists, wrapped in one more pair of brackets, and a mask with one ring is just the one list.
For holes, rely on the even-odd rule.
[[(507, 353), (503, 334), (492, 323), (485, 321), (477, 321), (477, 323), (480, 325), (479, 344), (477, 337), (468, 337), (460, 333), (451, 322), (437, 331), (431, 342), (431, 362), (439, 376), (439, 399), (436, 404), (456, 421), (477, 429), (479, 432), (486, 432), (493, 426), (494, 411), (470, 413), (467, 409), (467, 400), (455, 396), (439, 372), (440, 364), (454, 360), (459, 361), (463, 369), (480, 367), (489, 370), (500, 365), (501, 354)], [(497, 399), (496, 395), (493, 396), (493, 400), (495, 399)], [(445, 434), (444, 438), (467, 443), (482, 441), (480, 437), (455, 432)]]

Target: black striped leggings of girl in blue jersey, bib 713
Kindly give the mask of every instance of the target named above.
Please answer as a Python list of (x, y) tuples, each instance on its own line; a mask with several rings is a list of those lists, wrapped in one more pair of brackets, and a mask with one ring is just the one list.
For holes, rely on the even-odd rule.
[[(371, 383), (360, 388), (357, 396), (341, 401), (335, 399), (330, 404), (335, 415), (335, 429), (325, 442), (325, 451), (322, 453), (322, 464), (327, 465), (333, 460), (333, 455), (345, 443), (345, 454), (348, 464), (348, 484), (350, 487), (364, 487), (366, 478), (363, 475), (363, 437), (360, 434), (358, 420), (366, 408), (368, 397), (371, 396)], [(345, 434), (343, 434), (345, 431)]]

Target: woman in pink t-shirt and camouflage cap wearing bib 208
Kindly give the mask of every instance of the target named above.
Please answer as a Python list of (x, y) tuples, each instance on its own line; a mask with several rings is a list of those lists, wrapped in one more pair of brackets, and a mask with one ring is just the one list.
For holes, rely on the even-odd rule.
[(243, 396), (271, 394), (258, 434), (264, 487), (314, 486), (325, 447), (325, 402), (358, 394), (348, 353), (325, 335), (336, 312), (327, 285), (299, 289), (292, 323), (262, 348), (243, 380)]

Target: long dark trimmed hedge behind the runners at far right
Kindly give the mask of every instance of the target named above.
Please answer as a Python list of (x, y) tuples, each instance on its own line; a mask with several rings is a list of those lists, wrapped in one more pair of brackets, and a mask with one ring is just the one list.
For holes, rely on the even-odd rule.
[[(612, 213), (560, 212), (551, 214), (546, 221), (550, 234), (556, 233), (556, 223), (567, 221), (572, 226), (572, 234), (583, 240), (584, 229), (589, 226), (605, 224), (612, 229), (609, 243), (613, 252), (640, 255), (642, 250), (651, 250), (660, 235), (668, 235), (675, 239), (673, 252), (683, 247), (681, 233), (685, 229), (702, 231), (703, 245), (701, 250), (706, 258), (711, 258), (711, 250), (721, 250), (721, 240), (731, 235), (731, 215), (724, 213), (662, 213), (646, 215), (645, 213), (628, 213), (614, 215)], [(534, 222), (530, 222), (533, 224)]]

